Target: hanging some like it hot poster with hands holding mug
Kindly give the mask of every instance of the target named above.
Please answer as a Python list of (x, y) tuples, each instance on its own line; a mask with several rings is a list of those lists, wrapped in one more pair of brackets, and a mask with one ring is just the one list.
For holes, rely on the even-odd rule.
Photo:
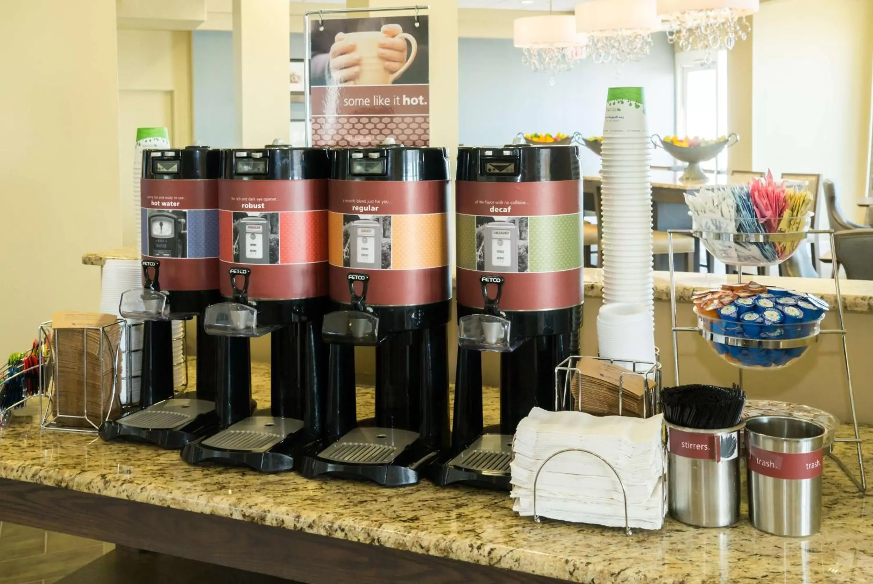
[(428, 17), (309, 25), (312, 146), (429, 146)]

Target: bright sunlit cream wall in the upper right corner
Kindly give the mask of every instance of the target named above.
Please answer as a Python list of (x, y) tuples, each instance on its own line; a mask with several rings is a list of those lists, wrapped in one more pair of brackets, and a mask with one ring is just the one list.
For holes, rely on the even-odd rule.
[(861, 220), (870, 161), (873, 2), (773, 0), (754, 17), (753, 167), (822, 173)]

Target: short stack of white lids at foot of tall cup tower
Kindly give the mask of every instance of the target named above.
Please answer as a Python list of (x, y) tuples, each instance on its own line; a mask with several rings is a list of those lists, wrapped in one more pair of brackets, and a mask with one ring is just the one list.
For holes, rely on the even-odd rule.
[[(600, 356), (633, 369), (624, 360), (655, 363), (655, 323), (645, 304), (613, 302), (597, 314), (597, 346)], [(638, 372), (649, 367), (637, 368)]]

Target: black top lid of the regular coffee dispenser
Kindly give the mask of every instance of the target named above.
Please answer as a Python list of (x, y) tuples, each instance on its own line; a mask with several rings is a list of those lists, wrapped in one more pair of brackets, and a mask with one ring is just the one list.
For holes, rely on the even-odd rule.
[(377, 146), (337, 148), (334, 180), (450, 180), (449, 151), (431, 146), (402, 146), (388, 138)]

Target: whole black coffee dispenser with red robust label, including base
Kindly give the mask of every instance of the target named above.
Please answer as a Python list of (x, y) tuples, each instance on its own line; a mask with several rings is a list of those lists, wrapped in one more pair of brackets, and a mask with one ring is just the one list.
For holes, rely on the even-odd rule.
[[(290, 471), (324, 435), (327, 150), (280, 143), (224, 152), (221, 294), (206, 331), (220, 343), (221, 431), (187, 445), (190, 464)], [(252, 415), (251, 338), (271, 336), (270, 411)]]

